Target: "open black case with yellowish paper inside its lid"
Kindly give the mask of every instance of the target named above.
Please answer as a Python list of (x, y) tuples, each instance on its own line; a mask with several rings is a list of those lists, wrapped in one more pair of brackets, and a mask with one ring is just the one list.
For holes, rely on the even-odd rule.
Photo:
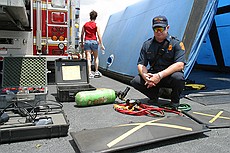
[(96, 90), (89, 84), (87, 60), (58, 59), (55, 61), (57, 99), (74, 102), (79, 91)]

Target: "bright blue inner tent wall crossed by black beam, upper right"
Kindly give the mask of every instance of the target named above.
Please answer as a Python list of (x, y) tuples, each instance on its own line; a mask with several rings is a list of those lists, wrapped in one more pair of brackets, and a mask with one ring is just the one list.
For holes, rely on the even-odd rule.
[[(216, 66), (217, 68), (230, 67), (230, 58), (229, 54), (229, 36), (230, 36), (230, 5), (229, 0), (220, 0), (218, 3), (218, 10), (224, 8), (224, 11), (217, 11), (215, 16), (216, 30), (218, 35), (213, 38), (214, 42), (210, 41), (210, 36), (206, 36), (206, 41), (204, 41), (200, 47), (200, 53), (197, 58), (197, 65), (206, 65), (206, 66)], [(219, 39), (219, 42), (217, 41)], [(219, 48), (213, 48), (212, 45), (219, 43)], [(222, 57), (214, 55), (214, 52), (219, 53)], [(223, 59), (221, 59), (223, 58)], [(223, 60), (223, 65), (218, 65), (216, 59)]]

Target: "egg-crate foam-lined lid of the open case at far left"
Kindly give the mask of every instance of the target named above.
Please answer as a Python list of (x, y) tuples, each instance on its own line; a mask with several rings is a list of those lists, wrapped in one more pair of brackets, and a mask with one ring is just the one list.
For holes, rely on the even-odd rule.
[(46, 58), (5, 57), (3, 87), (34, 87), (47, 85)]

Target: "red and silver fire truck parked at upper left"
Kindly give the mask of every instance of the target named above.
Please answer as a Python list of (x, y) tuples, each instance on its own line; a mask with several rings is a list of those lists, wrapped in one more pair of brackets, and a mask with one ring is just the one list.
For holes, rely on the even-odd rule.
[(80, 0), (1, 0), (0, 59), (78, 53)]

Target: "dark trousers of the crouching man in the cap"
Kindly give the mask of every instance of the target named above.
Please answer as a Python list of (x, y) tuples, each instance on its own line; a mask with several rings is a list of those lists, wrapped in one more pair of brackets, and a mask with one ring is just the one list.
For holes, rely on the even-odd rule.
[(130, 83), (135, 89), (152, 100), (158, 99), (160, 88), (172, 88), (171, 102), (175, 104), (179, 104), (180, 95), (185, 85), (184, 74), (182, 72), (175, 72), (172, 75), (163, 78), (156, 86), (151, 88), (147, 88), (144, 79), (140, 75), (134, 77)]

